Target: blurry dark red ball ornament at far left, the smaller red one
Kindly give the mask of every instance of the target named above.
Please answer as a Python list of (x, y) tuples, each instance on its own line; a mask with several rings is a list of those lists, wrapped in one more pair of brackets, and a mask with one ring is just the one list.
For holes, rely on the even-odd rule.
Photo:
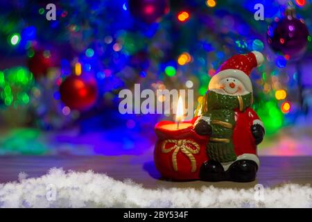
[(58, 54), (50, 49), (35, 49), (31, 58), (28, 58), (28, 68), (35, 78), (46, 76), (48, 69), (59, 66)]

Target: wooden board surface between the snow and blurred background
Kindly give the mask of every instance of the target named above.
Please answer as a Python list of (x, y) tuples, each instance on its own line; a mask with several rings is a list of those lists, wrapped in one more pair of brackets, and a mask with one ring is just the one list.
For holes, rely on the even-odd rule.
[(224, 188), (252, 188), (257, 183), (264, 187), (276, 187), (285, 182), (302, 185), (312, 183), (312, 157), (260, 157), (261, 167), (257, 180), (238, 182), (171, 182), (162, 180), (153, 164), (153, 155), (121, 156), (2, 156), (0, 157), (0, 182), (18, 179), (20, 172), (29, 177), (39, 177), (52, 167), (64, 170), (107, 173), (116, 180), (130, 178), (146, 188), (194, 187), (214, 185)]

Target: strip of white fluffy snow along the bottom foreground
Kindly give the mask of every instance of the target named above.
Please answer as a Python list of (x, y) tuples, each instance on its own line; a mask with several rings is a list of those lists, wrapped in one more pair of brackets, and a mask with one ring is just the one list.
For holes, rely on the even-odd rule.
[(105, 174), (51, 169), (0, 184), (0, 207), (312, 207), (310, 185), (259, 189), (145, 189)]

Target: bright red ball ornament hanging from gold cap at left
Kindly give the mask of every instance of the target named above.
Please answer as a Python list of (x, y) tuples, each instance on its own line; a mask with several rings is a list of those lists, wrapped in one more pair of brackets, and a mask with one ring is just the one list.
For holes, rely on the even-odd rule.
[(73, 110), (91, 108), (98, 97), (96, 80), (91, 76), (67, 77), (60, 85), (60, 99)]

